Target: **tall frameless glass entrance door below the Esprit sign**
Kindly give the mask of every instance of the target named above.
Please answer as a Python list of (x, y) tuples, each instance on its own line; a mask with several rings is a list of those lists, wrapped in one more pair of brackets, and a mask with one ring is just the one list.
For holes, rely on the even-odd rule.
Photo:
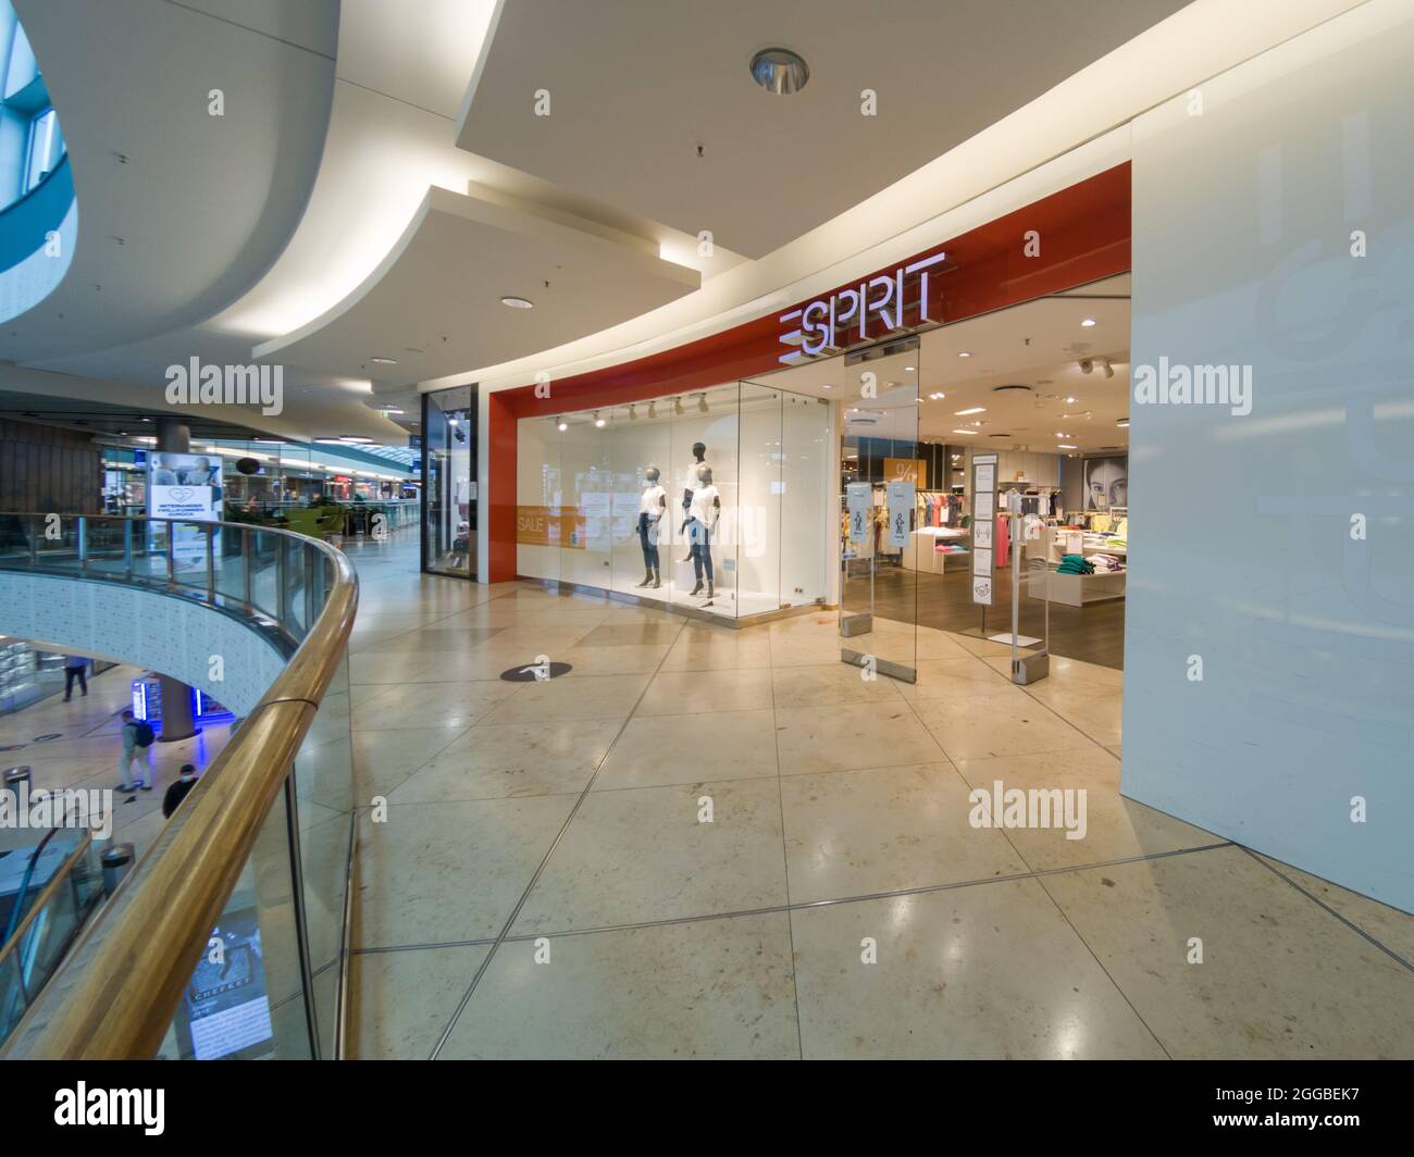
[(850, 354), (840, 399), (840, 659), (918, 680), (918, 338)]

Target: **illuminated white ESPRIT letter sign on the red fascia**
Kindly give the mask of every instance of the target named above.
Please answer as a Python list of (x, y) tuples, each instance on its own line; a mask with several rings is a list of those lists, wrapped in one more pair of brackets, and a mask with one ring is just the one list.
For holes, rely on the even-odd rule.
[[(846, 345), (868, 341), (871, 337), (887, 337), (909, 325), (921, 325), (937, 318), (928, 315), (928, 272), (946, 259), (946, 253), (935, 253), (909, 264), (901, 264), (892, 273), (881, 273), (860, 281), (858, 286), (836, 290), (829, 297), (819, 297), (807, 306), (782, 314), (782, 325), (790, 325), (781, 334), (782, 345), (790, 347), (778, 361), (797, 362), (820, 354), (840, 349)], [(916, 274), (918, 296), (905, 300), (905, 291)], [(905, 322), (906, 310), (916, 308), (918, 318)], [(871, 328), (872, 327), (872, 328)], [(855, 337), (857, 334), (857, 337)]]

